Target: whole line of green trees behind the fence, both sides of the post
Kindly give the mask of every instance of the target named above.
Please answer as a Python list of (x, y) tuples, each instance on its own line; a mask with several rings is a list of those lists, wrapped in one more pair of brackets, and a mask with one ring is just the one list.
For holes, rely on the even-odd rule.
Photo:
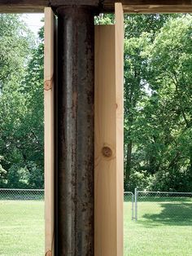
[[(0, 187), (43, 188), (43, 29), (34, 43), (19, 15), (0, 23)], [(124, 190), (191, 191), (192, 17), (124, 23)]]

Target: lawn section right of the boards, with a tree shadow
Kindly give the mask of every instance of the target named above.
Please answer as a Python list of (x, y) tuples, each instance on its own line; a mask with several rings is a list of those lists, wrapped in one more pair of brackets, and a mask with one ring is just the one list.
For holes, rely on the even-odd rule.
[(191, 256), (192, 200), (146, 200), (138, 202), (137, 222), (124, 202), (124, 256)]

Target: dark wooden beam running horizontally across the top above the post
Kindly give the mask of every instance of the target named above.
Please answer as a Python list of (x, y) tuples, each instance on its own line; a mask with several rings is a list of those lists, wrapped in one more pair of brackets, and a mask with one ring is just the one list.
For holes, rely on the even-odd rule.
[(44, 7), (61, 5), (98, 6), (113, 12), (115, 2), (122, 2), (128, 13), (192, 12), (192, 0), (0, 0), (0, 12), (43, 12)]

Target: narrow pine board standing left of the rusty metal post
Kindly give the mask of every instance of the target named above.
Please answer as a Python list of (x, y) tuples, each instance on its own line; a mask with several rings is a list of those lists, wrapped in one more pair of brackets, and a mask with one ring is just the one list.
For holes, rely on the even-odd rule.
[(45, 118), (45, 250), (54, 256), (54, 15), (45, 8), (44, 118)]

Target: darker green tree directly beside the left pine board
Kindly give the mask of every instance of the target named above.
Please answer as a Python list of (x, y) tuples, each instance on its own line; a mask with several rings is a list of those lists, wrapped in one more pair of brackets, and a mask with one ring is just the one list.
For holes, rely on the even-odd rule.
[(28, 73), (25, 77), (26, 90), (28, 90), (28, 115), (25, 119), (25, 130), (30, 135), (28, 146), (25, 147), (25, 156), (28, 161), (30, 188), (43, 188), (44, 186), (43, 28), (39, 31), (39, 39), (39, 45), (33, 50), (33, 57), (28, 64)]

